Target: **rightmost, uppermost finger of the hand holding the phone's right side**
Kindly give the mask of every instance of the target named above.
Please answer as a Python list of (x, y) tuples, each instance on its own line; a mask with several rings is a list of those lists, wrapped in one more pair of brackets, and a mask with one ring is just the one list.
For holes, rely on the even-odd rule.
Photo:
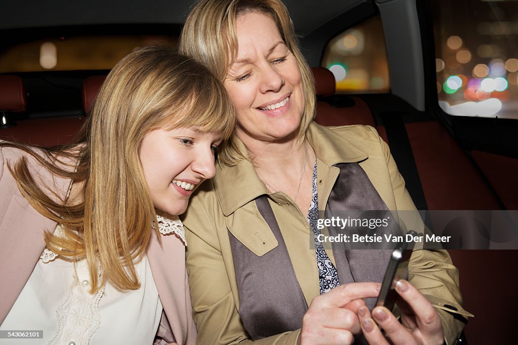
[(441, 320), (428, 299), (406, 280), (399, 280), (396, 283), (396, 291), (411, 308), (411, 311), (407, 308), (405, 313), (413, 312), (423, 337), (440, 341), (443, 338)]

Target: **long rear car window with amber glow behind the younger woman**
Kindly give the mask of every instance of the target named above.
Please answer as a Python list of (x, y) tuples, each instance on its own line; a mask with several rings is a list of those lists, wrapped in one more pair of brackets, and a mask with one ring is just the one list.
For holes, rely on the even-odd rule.
[(0, 73), (109, 70), (136, 48), (176, 43), (165, 35), (51, 37), (2, 49)]

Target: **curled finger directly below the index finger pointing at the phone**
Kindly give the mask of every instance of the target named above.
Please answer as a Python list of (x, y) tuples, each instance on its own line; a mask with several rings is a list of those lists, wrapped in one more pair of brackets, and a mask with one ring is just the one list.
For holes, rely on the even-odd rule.
[(361, 330), (356, 313), (344, 308), (308, 310), (304, 315), (303, 327), (346, 329), (353, 334)]

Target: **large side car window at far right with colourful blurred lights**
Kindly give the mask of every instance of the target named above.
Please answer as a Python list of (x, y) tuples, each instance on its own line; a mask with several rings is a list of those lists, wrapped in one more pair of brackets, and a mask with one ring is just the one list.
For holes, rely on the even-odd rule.
[(442, 110), (459, 116), (518, 118), (518, 1), (429, 4)]

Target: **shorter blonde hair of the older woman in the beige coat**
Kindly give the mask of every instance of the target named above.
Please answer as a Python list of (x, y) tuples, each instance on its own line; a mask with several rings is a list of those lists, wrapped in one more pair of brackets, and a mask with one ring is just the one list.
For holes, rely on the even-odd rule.
[[(179, 51), (208, 66), (223, 81), (237, 54), (237, 18), (257, 11), (269, 16), (279, 29), (287, 48), (295, 56), (305, 95), (305, 109), (298, 138), (305, 136), (315, 116), (315, 89), (311, 69), (298, 47), (293, 22), (284, 4), (279, 0), (201, 0), (189, 13), (182, 29)], [(230, 141), (222, 150), (220, 162), (229, 166), (243, 158)]]

